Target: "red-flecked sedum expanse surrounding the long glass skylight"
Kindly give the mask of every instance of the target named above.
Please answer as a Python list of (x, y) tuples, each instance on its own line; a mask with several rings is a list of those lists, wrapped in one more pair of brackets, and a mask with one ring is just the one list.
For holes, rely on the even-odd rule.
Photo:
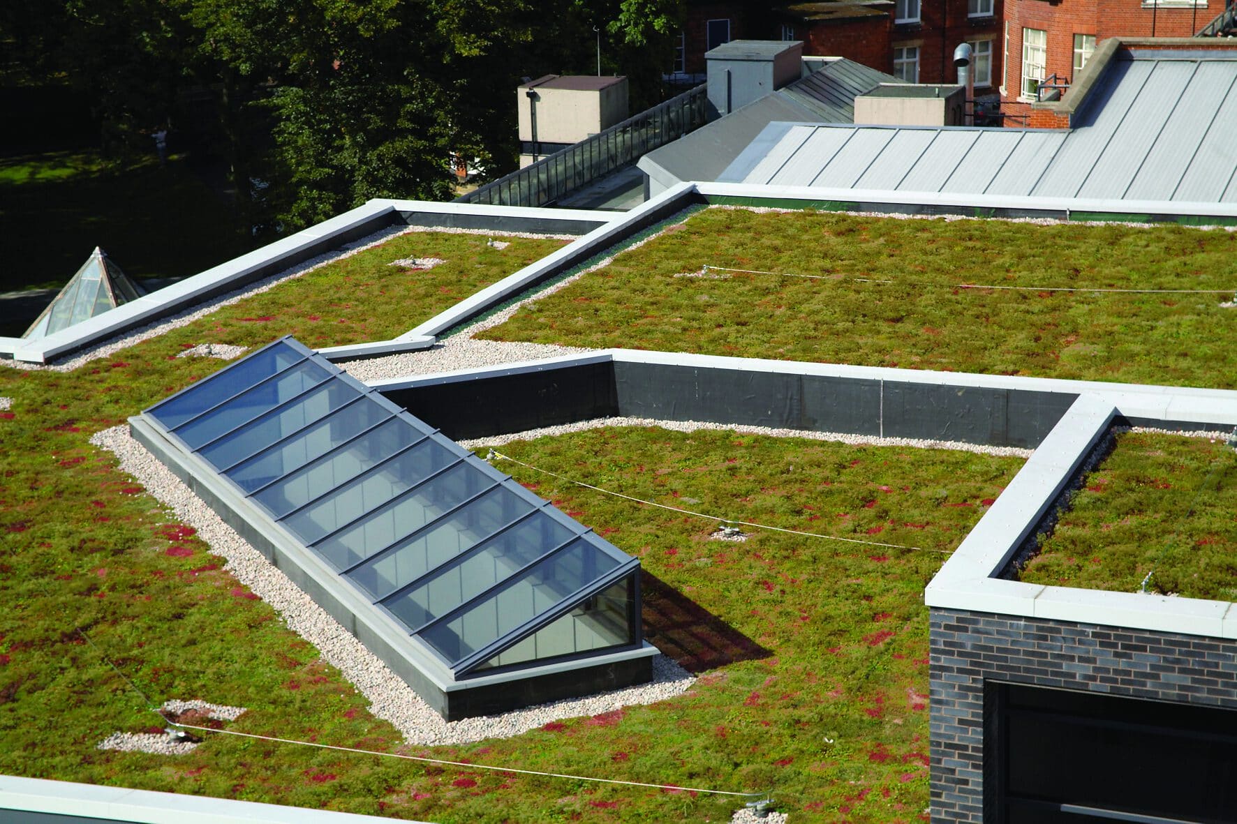
[[(0, 773), (120, 784), (439, 822), (726, 820), (734, 798), (632, 791), (438, 768), (233, 737), (187, 756), (103, 752), (115, 731), (160, 726), (155, 704), (247, 706), (229, 729), (402, 751), (393, 727), (277, 620), (179, 522), (93, 448), (94, 432), (219, 369), (179, 359), (198, 343), (257, 346), (387, 337), (544, 249), (460, 246), (411, 235), (454, 261), (404, 276), (408, 249), (357, 255), (188, 327), (61, 374), (0, 369)], [(527, 244), (527, 246), (524, 246)], [(552, 247), (553, 244), (549, 244)], [(395, 251), (393, 251), (395, 250)], [(491, 273), (484, 273), (491, 271)], [(434, 288), (416, 291), (418, 278)], [(390, 317), (360, 299), (402, 290)], [(351, 280), (349, 280), (351, 278)], [(443, 293), (448, 283), (459, 293)], [(314, 317), (310, 317), (314, 315)], [(501, 464), (642, 557), (654, 642), (700, 680), (652, 706), (548, 724), (511, 740), (416, 755), (633, 781), (772, 789), (797, 818), (910, 822), (927, 805), (924, 583), (1021, 465), (910, 448), (773, 440), (729, 432), (600, 431), (501, 452), (689, 509), (820, 534), (709, 541), (713, 521), (643, 509)], [(939, 552), (938, 552), (939, 551)], [(85, 642), (84, 630), (98, 648)]]

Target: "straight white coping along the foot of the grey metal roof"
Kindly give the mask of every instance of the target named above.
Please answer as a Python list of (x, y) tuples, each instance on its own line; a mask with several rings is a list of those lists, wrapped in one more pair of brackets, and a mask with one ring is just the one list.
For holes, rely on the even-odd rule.
[(956, 192), (898, 192), (894, 189), (849, 189), (814, 186), (772, 186), (766, 183), (698, 182), (700, 194), (792, 200), (842, 200), (889, 203), (897, 205), (975, 207), (981, 209), (1030, 209), (1043, 212), (1113, 212), (1119, 214), (1164, 214), (1181, 217), (1237, 218), (1237, 203), (1199, 203), (1178, 200), (1111, 200), (1089, 198), (1047, 198), (1018, 194), (978, 194)]

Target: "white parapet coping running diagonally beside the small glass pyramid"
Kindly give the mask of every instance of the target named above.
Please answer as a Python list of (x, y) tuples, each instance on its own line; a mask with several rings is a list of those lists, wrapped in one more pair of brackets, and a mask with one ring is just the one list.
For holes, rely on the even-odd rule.
[[(270, 264), (278, 264), (280, 260), (291, 257), (304, 249), (355, 229), (359, 225), (372, 221), (383, 214), (395, 210), (381, 202), (370, 202), (344, 214), (324, 220), (317, 225), (303, 229), (294, 235), (289, 235), (261, 249), (255, 249), (240, 257), (234, 257), (219, 266), (199, 272), (183, 281), (177, 281), (139, 297), (136, 301), (122, 303), (93, 318), (87, 318), (80, 323), (63, 329), (46, 338), (24, 340), (21, 345), (14, 346), (11, 354), (15, 360), (32, 363), (46, 363), (62, 353), (79, 349), (89, 343), (108, 338), (118, 332), (140, 325), (145, 319), (156, 319), (169, 314), (179, 308), (188, 308), (202, 299), (207, 292), (214, 292), (220, 287), (226, 288), (234, 281), (244, 282), (255, 270)], [(0, 341), (0, 354), (9, 354)]]

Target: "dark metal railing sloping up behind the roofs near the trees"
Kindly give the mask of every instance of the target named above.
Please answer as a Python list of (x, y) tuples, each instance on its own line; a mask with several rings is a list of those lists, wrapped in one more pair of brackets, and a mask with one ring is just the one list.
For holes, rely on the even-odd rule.
[(628, 118), (531, 166), (455, 198), (455, 203), (541, 207), (632, 163), (704, 125), (708, 85)]

